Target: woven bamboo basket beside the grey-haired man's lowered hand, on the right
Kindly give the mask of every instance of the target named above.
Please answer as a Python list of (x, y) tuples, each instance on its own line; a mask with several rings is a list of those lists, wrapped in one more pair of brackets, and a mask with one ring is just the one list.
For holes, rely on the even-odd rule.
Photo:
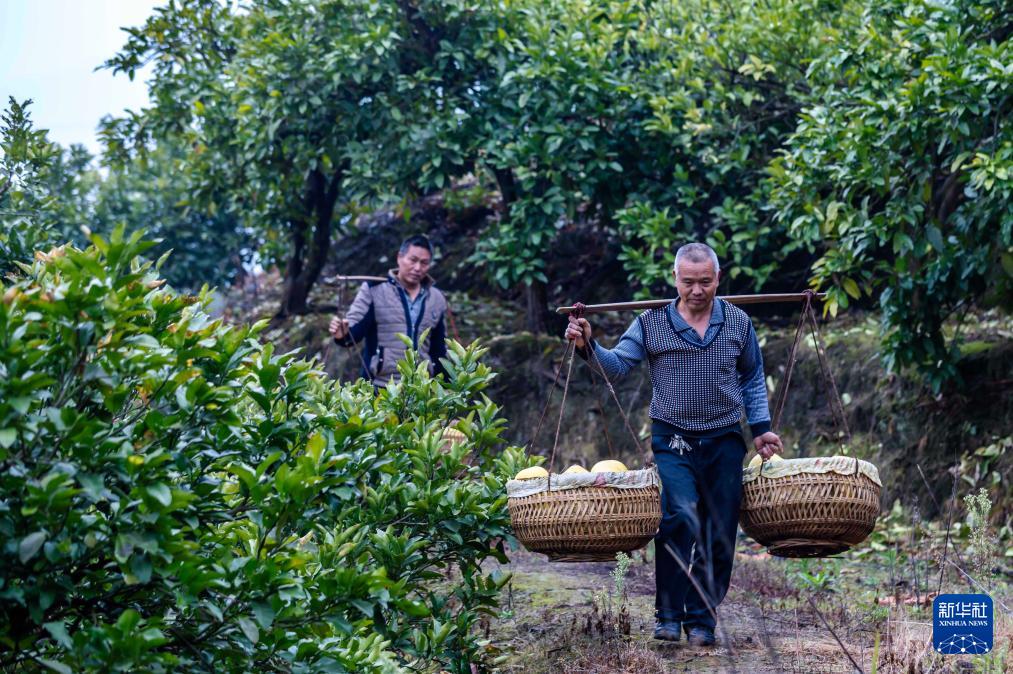
[[(804, 459), (786, 459), (799, 461)], [(771, 554), (819, 557), (837, 554), (872, 532), (881, 488), (859, 471), (760, 475), (743, 485), (739, 524)]]

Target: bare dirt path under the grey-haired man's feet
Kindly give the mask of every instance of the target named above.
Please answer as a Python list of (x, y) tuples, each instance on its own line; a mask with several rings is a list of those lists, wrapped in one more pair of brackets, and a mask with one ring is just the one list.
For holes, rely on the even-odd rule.
[[(613, 587), (615, 565), (549, 564), (542, 555), (515, 551), (506, 567), (514, 579), (490, 636), (510, 645), (504, 671), (525, 674), (854, 671), (819, 618), (805, 610), (804, 599), (785, 579), (783, 563), (764, 557), (738, 555), (732, 587), (718, 611), (719, 646), (696, 649), (652, 639), (653, 564), (638, 555), (627, 577), (630, 642), (603, 649), (589, 621), (594, 620), (594, 593)], [(871, 634), (842, 639), (867, 670)]]

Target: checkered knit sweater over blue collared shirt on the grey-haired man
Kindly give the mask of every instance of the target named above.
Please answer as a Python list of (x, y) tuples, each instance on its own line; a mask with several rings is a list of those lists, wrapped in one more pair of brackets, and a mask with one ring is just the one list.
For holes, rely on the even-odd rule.
[(625, 375), (647, 360), (655, 432), (661, 427), (700, 437), (735, 431), (744, 408), (754, 435), (770, 430), (763, 357), (753, 323), (723, 300), (715, 299), (703, 340), (670, 304), (637, 316), (615, 349), (599, 344), (594, 349), (610, 377)]

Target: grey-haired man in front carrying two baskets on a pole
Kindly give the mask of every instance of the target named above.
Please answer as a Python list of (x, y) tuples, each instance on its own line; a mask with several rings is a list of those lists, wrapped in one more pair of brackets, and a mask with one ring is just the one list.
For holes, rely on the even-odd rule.
[(734, 559), (747, 452), (743, 410), (762, 456), (783, 447), (770, 430), (753, 323), (737, 307), (715, 299), (717, 255), (703, 243), (684, 245), (673, 274), (679, 298), (637, 316), (614, 349), (592, 339), (585, 318), (570, 316), (565, 338), (575, 341), (583, 358), (597, 358), (610, 377), (647, 360), (663, 510), (654, 539), (654, 638), (677, 642), (685, 630), (691, 645), (712, 646), (711, 610), (724, 599)]

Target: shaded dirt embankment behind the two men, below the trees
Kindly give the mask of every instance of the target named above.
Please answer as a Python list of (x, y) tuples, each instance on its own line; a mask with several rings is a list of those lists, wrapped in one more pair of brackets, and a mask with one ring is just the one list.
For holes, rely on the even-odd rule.
[[(453, 308), (448, 332), (464, 342), (480, 339), (489, 347), (489, 363), (499, 373), (489, 394), (503, 406), (512, 442), (532, 442), (545, 410), (533, 447), (548, 456), (559, 417), (562, 375), (559, 388), (551, 396), (550, 391), (558, 369), (563, 367), (565, 373), (563, 345), (554, 335), (526, 332), (521, 291), (491, 286), (468, 261), (483, 228), (493, 226), (490, 223), (494, 223), (494, 214), (495, 203), (489, 198), (448, 208), (441, 196), (434, 196), (414, 209), (410, 223), (391, 213), (371, 216), (335, 244), (333, 261), (325, 276), (383, 275), (394, 266), (397, 244), (405, 234), (428, 233), (438, 246), (434, 275)], [(618, 244), (603, 230), (571, 228), (563, 232), (557, 248), (550, 268), (552, 278), (559, 281), (549, 289), (550, 301), (562, 303), (579, 298), (598, 302), (631, 294), (616, 267)], [(359, 357), (331, 345), (325, 332), (329, 317), (339, 310), (338, 290), (334, 285), (319, 284), (312, 296), (316, 312), (276, 322), (266, 336), (280, 349), (301, 348), (306, 354), (319, 355), (331, 374), (347, 379), (357, 375)], [(355, 290), (345, 289), (345, 301), (350, 300)], [(233, 317), (250, 320), (271, 316), (277, 298), (276, 277), (262, 281), (255, 290), (232, 292), (227, 304)], [(773, 394), (784, 374), (795, 316), (783, 305), (778, 309), (786, 311), (783, 314), (770, 313), (772, 307), (748, 308), (761, 338)], [(633, 314), (599, 314), (593, 318), (598, 338), (611, 345)], [(886, 505), (902, 499), (908, 506), (917, 506), (923, 515), (934, 516), (938, 504), (945, 503), (951, 492), (948, 469), (959, 464), (961, 456), (997, 441), (1002, 447), (1002, 440), (1013, 436), (1013, 318), (990, 314), (972, 316), (969, 321), (963, 328), (963, 382), (939, 395), (932, 395), (912, 376), (885, 372), (878, 354), (881, 333), (875, 315), (855, 312), (824, 324), (828, 361), (844, 395), (853, 433), (849, 451), (879, 467)], [(649, 443), (650, 381), (646, 368), (641, 366), (614, 383), (634, 431), (644, 444)], [(789, 456), (838, 452), (838, 429), (825, 390), (812, 345), (803, 341), (782, 425)], [(995, 475), (1000, 480), (1010, 477), (1013, 452), (992, 453), (995, 455), (989, 457), (985, 474), (965, 476), (962, 489), (977, 489), (981, 482), (994, 490)], [(570, 463), (589, 465), (606, 457), (620, 457), (636, 464), (638, 453), (607, 387), (588, 364), (576, 359), (562, 414), (556, 461), (561, 468)], [(1004, 504), (1003, 509), (994, 513), (999, 522), (1011, 515), (1009, 504)]]

